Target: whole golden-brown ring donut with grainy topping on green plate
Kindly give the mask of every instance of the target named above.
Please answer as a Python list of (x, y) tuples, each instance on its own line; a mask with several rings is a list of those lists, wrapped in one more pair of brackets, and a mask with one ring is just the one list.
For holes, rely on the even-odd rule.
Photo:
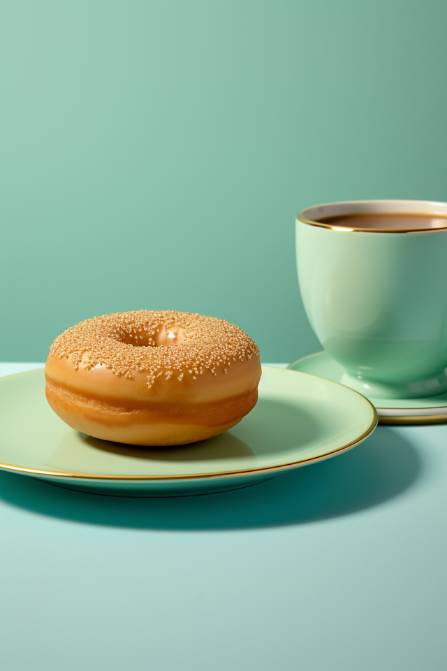
[(54, 340), (47, 401), (66, 424), (130, 445), (184, 445), (256, 405), (259, 350), (247, 333), (189, 312), (117, 312)]

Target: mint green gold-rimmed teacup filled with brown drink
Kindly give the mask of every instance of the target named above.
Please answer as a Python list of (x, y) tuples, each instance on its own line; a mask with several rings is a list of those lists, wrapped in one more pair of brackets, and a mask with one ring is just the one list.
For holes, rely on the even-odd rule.
[(307, 208), (296, 250), (307, 316), (343, 384), (379, 398), (447, 390), (447, 203)]

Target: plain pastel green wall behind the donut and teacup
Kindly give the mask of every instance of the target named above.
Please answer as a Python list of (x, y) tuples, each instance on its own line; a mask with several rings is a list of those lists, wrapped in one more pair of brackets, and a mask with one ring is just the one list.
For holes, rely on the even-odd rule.
[(0, 22), (0, 360), (147, 308), (291, 361), (319, 349), (296, 212), (447, 200), (445, 2), (8, 0)]

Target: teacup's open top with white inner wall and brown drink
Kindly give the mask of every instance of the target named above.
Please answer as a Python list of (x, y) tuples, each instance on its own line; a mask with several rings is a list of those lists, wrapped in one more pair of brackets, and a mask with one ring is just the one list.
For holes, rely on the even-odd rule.
[(346, 201), (314, 205), (302, 210), (297, 218), (306, 224), (335, 230), (379, 233), (432, 231), (447, 229), (447, 203)]

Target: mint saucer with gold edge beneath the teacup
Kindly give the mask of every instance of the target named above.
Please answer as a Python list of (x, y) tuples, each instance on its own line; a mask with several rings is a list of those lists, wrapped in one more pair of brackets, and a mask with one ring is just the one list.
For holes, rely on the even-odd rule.
[[(316, 352), (293, 361), (290, 370), (318, 375), (340, 382), (344, 370), (328, 352)], [(447, 421), (447, 392), (425, 398), (374, 398), (365, 396), (376, 407), (379, 424), (439, 424)]]

